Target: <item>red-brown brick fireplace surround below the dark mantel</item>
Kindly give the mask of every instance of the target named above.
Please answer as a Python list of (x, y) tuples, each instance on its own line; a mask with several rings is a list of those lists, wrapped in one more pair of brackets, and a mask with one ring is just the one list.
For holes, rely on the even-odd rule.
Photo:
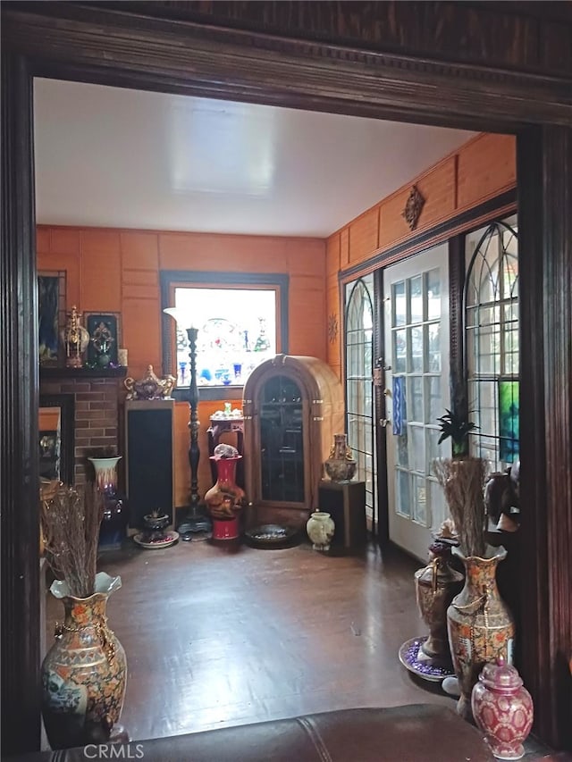
[[(119, 409), (125, 368), (40, 368), (41, 395), (72, 395), (74, 401), (73, 475), (75, 484), (91, 476), (88, 456), (101, 448), (121, 455)], [(64, 426), (62, 426), (64, 430)], [(66, 442), (62, 442), (62, 448)]]

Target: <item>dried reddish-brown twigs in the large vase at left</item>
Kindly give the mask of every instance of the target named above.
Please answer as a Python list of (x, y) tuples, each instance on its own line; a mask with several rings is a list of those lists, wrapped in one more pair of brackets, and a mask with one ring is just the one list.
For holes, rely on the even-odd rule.
[(55, 577), (67, 583), (74, 598), (95, 592), (97, 543), (104, 502), (94, 484), (85, 488), (60, 484), (44, 501), (41, 521), (46, 560)]

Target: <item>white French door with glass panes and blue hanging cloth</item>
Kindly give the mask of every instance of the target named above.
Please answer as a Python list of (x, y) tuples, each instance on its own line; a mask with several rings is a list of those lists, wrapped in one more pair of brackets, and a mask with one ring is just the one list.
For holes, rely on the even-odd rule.
[(450, 407), (448, 245), (383, 271), (384, 395), (390, 540), (425, 560), (432, 530), (447, 518), (432, 472), (437, 418)]

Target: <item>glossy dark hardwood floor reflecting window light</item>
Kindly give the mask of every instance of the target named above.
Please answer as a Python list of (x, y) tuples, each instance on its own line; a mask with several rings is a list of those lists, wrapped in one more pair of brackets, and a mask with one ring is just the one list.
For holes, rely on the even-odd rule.
[[(127, 654), (122, 724), (133, 740), (328, 709), (455, 706), (400, 665), (401, 643), (426, 631), (418, 564), (399, 551), (128, 543), (98, 565), (122, 577), (108, 616)], [(62, 612), (48, 595), (48, 646)]]

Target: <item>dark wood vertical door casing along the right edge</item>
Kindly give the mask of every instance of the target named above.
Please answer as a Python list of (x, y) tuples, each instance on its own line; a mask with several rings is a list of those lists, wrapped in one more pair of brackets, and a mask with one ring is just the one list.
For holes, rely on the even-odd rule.
[[(568, 168), (562, 172), (562, 167)], [(517, 142), (521, 322), (521, 670), (535, 729), (572, 749), (572, 129)], [(535, 603), (531, 605), (531, 602)], [(550, 707), (550, 709), (549, 709)]]

